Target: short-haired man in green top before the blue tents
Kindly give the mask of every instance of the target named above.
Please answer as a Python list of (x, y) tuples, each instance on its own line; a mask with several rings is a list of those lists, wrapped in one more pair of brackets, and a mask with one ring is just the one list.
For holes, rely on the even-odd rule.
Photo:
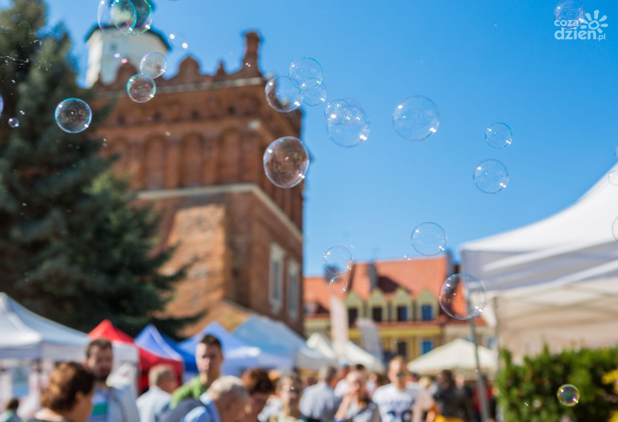
[(174, 408), (184, 399), (199, 399), (208, 390), (208, 387), (221, 376), (223, 352), (221, 342), (214, 335), (206, 334), (195, 347), (195, 363), (200, 374), (180, 387), (169, 404)]

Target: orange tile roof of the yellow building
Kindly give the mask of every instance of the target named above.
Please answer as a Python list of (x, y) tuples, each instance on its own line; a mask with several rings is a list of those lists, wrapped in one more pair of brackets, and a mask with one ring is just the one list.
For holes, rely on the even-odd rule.
[[(367, 300), (371, 295), (372, 264), (376, 268), (377, 287), (386, 297), (390, 297), (398, 287), (410, 292), (412, 297), (418, 297), (425, 289), (438, 297), (442, 282), (452, 272), (449, 254), (436, 258), (355, 263), (344, 277), (348, 282), (347, 291), (356, 293), (362, 300)], [(310, 310), (310, 314), (328, 312), (330, 297), (341, 298), (341, 295), (335, 295), (329, 290), (328, 281), (323, 276), (305, 277), (303, 289), (305, 304), (314, 308)]]

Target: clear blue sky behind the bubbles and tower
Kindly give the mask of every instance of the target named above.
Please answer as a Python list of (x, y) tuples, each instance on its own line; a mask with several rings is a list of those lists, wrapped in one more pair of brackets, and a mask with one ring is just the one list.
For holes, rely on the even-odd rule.
[[(49, 2), (83, 63), (98, 1)], [(328, 139), (323, 109), (305, 116), (303, 140), (315, 158), (305, 195), (305, 273), (320, 274), (332, 245), (354, 245), (356, 260), (414, 255), (410, 233), (423, 221), (441, 224), (453, 251), (536, 221), (575, 201), (616, 162), (618, 3), (584, 2), (607, 15), (603, 41), (554, 39), (556, 3), (156, 0), (153, 25), (183, 32), (208, 72), (219, 59), (236, 69), (240, 34), (255, 28), (265, 72), (282, 74), (295, 58), (315, 57), (329, 98), (363, 105), (371, 135), (352, 149)], [(438, 104), (441, 124), (413, 143), (392, 130), (391, 114), (418, 94)], [(493, 122), (513, 129), (506, 150), (485, 143)], [(497, 195), (472, 183), (486, 158), (509, 169), (509, 186)]]

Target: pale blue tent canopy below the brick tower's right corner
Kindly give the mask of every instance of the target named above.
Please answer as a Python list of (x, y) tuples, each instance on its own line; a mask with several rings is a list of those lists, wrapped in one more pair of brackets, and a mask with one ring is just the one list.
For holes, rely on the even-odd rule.
[(285, 324), (263, 316), (250, 316), (232, 334), (261, 350), (292, 358), (299, 368), (317, 371), (323, 365), (337, 364), (336, 360), (307, 347), (305, 340)]

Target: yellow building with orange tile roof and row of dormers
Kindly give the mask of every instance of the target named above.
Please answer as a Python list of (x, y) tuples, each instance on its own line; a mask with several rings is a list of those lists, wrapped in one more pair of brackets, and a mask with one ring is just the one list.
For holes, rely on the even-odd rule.
[[(355, 263), (345, 274), (347, 291), (334, 295), (328, 277), (305, 277), (305, 334), (331, 334), (330, 297), (347, 308), (349, 339), (362, 345), (358, 318), (372, 319), (378, 327), (384, 357), (402, 355), (412, 360), (454, 337), (468, 337), (465, 321), (449, 318), (438, 298), (442, 282), (454, 272), (451, 255), (415, 260)], [(489, 332), (479, 327), (480, 342)]]

